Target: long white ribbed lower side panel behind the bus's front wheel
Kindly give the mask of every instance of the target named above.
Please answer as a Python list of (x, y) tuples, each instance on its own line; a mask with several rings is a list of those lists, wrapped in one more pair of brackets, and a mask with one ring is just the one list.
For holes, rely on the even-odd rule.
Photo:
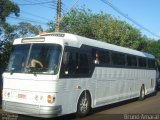
[(142, 84), (146, 94), (155, 88), (154, 70), (96, 67), (92, 79), (97, 81), (95, 107), (139, 97)]

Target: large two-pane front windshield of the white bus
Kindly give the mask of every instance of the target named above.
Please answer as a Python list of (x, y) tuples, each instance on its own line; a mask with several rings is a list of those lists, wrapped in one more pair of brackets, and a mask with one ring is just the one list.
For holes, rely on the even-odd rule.
[(19, 44), (12, 48), (7, 72), (57, 74), (61, 46), (57, 44)]

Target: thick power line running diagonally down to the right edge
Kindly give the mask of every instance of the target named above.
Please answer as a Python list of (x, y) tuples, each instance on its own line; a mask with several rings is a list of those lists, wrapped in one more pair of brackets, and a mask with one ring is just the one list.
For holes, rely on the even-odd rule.
[(141, 29), (147, 31), (148, 33), (152, 34), (155, 37), (160, 38), (159, 35), (155, 34), (154, 32), (150, 31), (149, 29), (147, 29), (146, 27), (142, 26), (140, 23), (138, 23), (137, 21), (135, 21), (134, 19), (132, 19), (131, 17), (129, 17), (127, 14), (123, 13), (122, 11), (120, 11), (117, 7), (115, 7), (112, 3), (110, 3), (107, 0), (101, 0), (103, 3), (107, 4), (108, 6), (110, 6), (112, 9), (114, 9), (116, 12), (118, 12), (120, 15), (122, 15), (123, 17), (125, 17), (126, 19), (130, 20), (131, 22), (133, 22), (135, 25), (139, 26)]

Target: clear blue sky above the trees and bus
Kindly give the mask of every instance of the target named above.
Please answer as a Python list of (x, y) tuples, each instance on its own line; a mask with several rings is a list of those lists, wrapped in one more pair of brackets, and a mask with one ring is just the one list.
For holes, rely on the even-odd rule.
[[(14, 15), (11, 15), (7, 19), (11, 24), (17, 24), (23, 21), (35, 25), (42, 25), (42, 27), (46, 29), (46, 23), (48, 21), (55, 21), (57, 0), (12, 1), (20, 6), (21, 12), (19, 18), (15, 18)], [(131, 18), (141, 27), (119, 14), (103, 1), (111, 3), (114, 8)], [(33, 3), (42, 4), (33, 5)], [(72, 8), (82, 7), (92, 10), (93, 13), (103, 11), (104, 13), (110, 14), (119, 20), (126, 21), (133, 27), (139, 29), (142, 35), (146, 35), (155, 40), (160, 39), (160, 0), (62, 0), (62, 13), (67, 13)]]

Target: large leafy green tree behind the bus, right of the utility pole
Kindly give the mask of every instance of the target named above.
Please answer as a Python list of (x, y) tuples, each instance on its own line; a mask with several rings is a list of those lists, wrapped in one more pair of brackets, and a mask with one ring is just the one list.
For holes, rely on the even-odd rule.
[[(55, 31), (50, 22), (49, 31)], [(93, 14), (91, 10), (74, 9), (61, 19), (61, 32), (73, 33), (133, 49), (144, 42), (138, 29), (106, 13)]]

